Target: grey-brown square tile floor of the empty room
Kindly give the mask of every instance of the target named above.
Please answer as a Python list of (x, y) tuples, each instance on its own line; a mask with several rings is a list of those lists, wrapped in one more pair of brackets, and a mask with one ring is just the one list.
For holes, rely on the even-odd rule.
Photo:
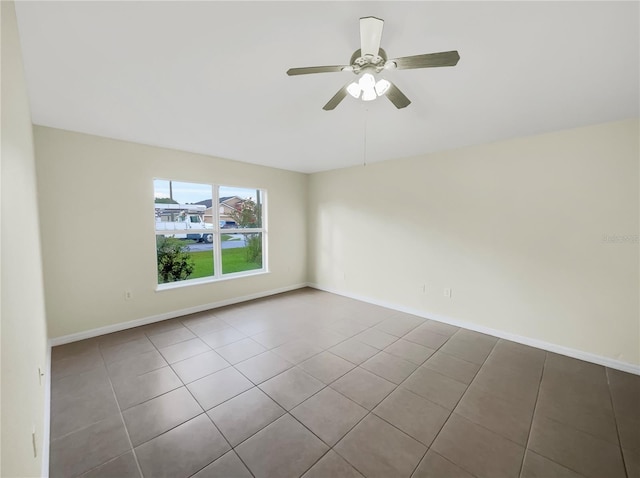
[(312, 289), (55, 347), (52, 478), (639, 477), (640, 377)]

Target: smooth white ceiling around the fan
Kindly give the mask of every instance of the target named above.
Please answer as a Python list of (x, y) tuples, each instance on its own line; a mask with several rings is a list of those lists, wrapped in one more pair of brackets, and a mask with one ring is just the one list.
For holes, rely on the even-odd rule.
[[(315, 172), (637, 117), (638, 2), (19, 2), (35, 124)], [(351, 97), (358, 19), (412, 100)]]

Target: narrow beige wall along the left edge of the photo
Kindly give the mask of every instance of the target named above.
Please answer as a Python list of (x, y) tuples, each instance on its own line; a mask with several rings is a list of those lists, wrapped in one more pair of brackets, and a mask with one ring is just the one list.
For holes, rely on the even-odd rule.
[[(13, 2), (2, 3), (1, 476), (41, 476), (46, 324), (29, 101)], [(36, 433), (34, 457), (32, 432)]]

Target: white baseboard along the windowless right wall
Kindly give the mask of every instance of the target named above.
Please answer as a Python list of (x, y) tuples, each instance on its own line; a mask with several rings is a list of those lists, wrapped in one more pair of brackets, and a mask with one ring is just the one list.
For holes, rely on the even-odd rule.
[(570, 347), (565, 347), (563, 345), (558, 345), (558, 344), (553, 344), (549, 342), (544, 342), (542, 340), (532, 339), (522, 335), (516, 335), (509, 332), (504, 332), (498, 329), (484, 327), (482, 325), (473, 324), (471, 322), (465, 322), (463, 320), (458, 320), (456, 318), (447, 317), (441, 314), (431, 314), (428, 312), (424, 312), (422, 310), (413, 309), (411, 307), (404, 307), (402, 305), (392, 304), (389, 302), (385, 302), (383, 300), (372, 299), (371, 297), (360, 296), (357, 294), (349, 294), (337, 289), (332, 289), (330, 287), (324, 287), (319, 284), (308, 282), (307, 286), (312, 287), (314, 289), (323, 290), (325, 292), (331, 292), (332, 294), (349, 297), (350, 299), (360, 300), (362, 302), (367, 302), (369, 304), (379, 305), (381, 307), (386, 307), (388, 309), (397, 310), (399, 312), (405, 312), (407, 314), (417, 315), (418, 317), (422, 317), (425, 319), (435, 320), (436, 322), (443, 322), (445, 324), (455, 325), (456, 327), (463, 327), (465, 329), (474, 330), (476, 332), (491, 335), (493, 337), (498, 337), (505, 340), (511, 340), (512, 342), (517, 342), (523, 345), (529, 345), (531, 347), (546, 350), (548, 352), (554, 352), (560, 355), (566, 355), (568, 357), (584, 360), (585, 362), (591, 362), (598, 365), (603, 365), (605, 367), (613, 368), (616, 370), (621, 370), (623, 372), (629, 372), (635, 375), (640, 375), (640, 365), (623, 362), (621, 360), (615, 360), (609, 357), (603, 357), (601, 355), (592, 354), (590, 352), (585, 352), (582, 350), (572, 349)]

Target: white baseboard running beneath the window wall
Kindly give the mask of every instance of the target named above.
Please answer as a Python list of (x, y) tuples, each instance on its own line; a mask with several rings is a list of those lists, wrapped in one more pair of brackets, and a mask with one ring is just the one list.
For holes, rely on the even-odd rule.
[(163, 314), (152, 315), (149, 317), (143, 317), (141, 319), (131, 320), (129, 322), (121, 322), (118, 324), (106, 325), (104, 327), (98, 327), (97, 329), (85, 330), (70, 335), (63, 335), (61, 337), (54, 337), (49, 340), (52, 347), (57, 345), (64, 345), (71, 342), (77, 342), (79, 340), (90, 339), (92, 337), (98, 337), (99, 335), (111, 334), (113, 332), (120, 332), (121, 330), (132, 329), (134, 327), (140, 327), (141, 325), (153, 324), (167, 319), (174, 319), (183, 315), (194, 314), (196, 312), (202, 312), (210, 309), (217, 309), (218, 307), (224, 307), (225, 305), (238, 304), (240, 302), (247, 302), (249, 300), (260, 299), (262, 297), (268, 297), (270, 295), (281, 294), (283, 292), (289, 292), (296, 289), (307, 287), (306, 283), (294, 284), (287, 287), (281, 287), (279, 289), (271, 289), (263, 292), (257, 292), (255, 294), (244, 295), (241, 297), (234, 297), (231, 299), (220, 300), (217, 302), (210, 302), (208, 304), (197, 305), (194, 307), (188, 307), (186, 309), (173, 310), (171, 312), (165, 312)]

